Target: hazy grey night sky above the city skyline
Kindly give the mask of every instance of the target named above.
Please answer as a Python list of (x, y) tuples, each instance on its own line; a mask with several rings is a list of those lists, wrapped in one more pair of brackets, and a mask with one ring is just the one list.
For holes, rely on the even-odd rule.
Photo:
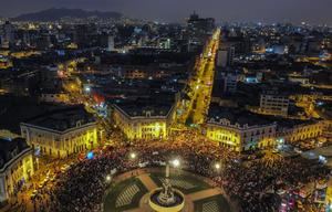
[(184, 21), (196, 10), (220, 21), (332, 24), (332, 0), (0, 0), (0, 17), (49, 8), (120, 11), (131, 18)]

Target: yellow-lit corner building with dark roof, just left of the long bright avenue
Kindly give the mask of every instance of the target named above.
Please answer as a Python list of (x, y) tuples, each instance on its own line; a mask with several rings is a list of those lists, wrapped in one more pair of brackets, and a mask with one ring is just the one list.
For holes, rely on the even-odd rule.
[(166, 139), (168, 128), (174, 119), (170, 104), (133, 104), (113, 105), (113, 120), (129, 140)]

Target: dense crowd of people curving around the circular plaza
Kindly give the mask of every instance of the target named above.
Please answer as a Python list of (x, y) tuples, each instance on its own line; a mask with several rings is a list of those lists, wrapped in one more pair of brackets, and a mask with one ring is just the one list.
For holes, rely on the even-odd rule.
[[(56, 184), (49, 191), (49, 209), (61, 212), (102, 211), (103, 198), (110, 186), (106, 177), (145, 165), (160, 166), (179, 158), (181, 169), (210, 178), (235, 202), (238, 210), (273, 211), (278, 209), (276, 191), (286, 183), (298, 186), (326, 177), (328, 170), (303, 158), (269, 161), (264, 158), (241, 161), (240, 155), (211, 142), (198, 141), (195, 132), (175, 135), (170, 141), (136, 141), (126, 146), (110, 146), (95, 151), (93, 159), (81, 160), (58, 174)], [(129, 155), (135, 152), (136, 159)], [(214, 165), (221, 165), (216, 170)], [(280, 183), (282, 182), (282, 183)]]

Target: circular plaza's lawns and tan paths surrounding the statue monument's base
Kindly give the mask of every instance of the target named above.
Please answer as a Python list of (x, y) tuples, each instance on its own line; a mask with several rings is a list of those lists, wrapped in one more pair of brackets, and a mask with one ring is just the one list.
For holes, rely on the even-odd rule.
[[(136, 169), (116, 176), (107, 190), (104, 212), (154, 212), (149, 205), (152, 193), (165, 183), (163, 168)], [(232, 212), (220, 188), (207, 178), (173, 169), (169, 182), (184, 194), (183, 212)]]

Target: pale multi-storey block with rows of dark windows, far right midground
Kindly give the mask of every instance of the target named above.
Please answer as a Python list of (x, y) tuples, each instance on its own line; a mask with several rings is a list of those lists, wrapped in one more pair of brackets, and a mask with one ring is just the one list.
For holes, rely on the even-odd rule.
[(277, 91), (266, 91), (260, 95), (260, 112), (267, 115), (287, 116), (289, 96)]

